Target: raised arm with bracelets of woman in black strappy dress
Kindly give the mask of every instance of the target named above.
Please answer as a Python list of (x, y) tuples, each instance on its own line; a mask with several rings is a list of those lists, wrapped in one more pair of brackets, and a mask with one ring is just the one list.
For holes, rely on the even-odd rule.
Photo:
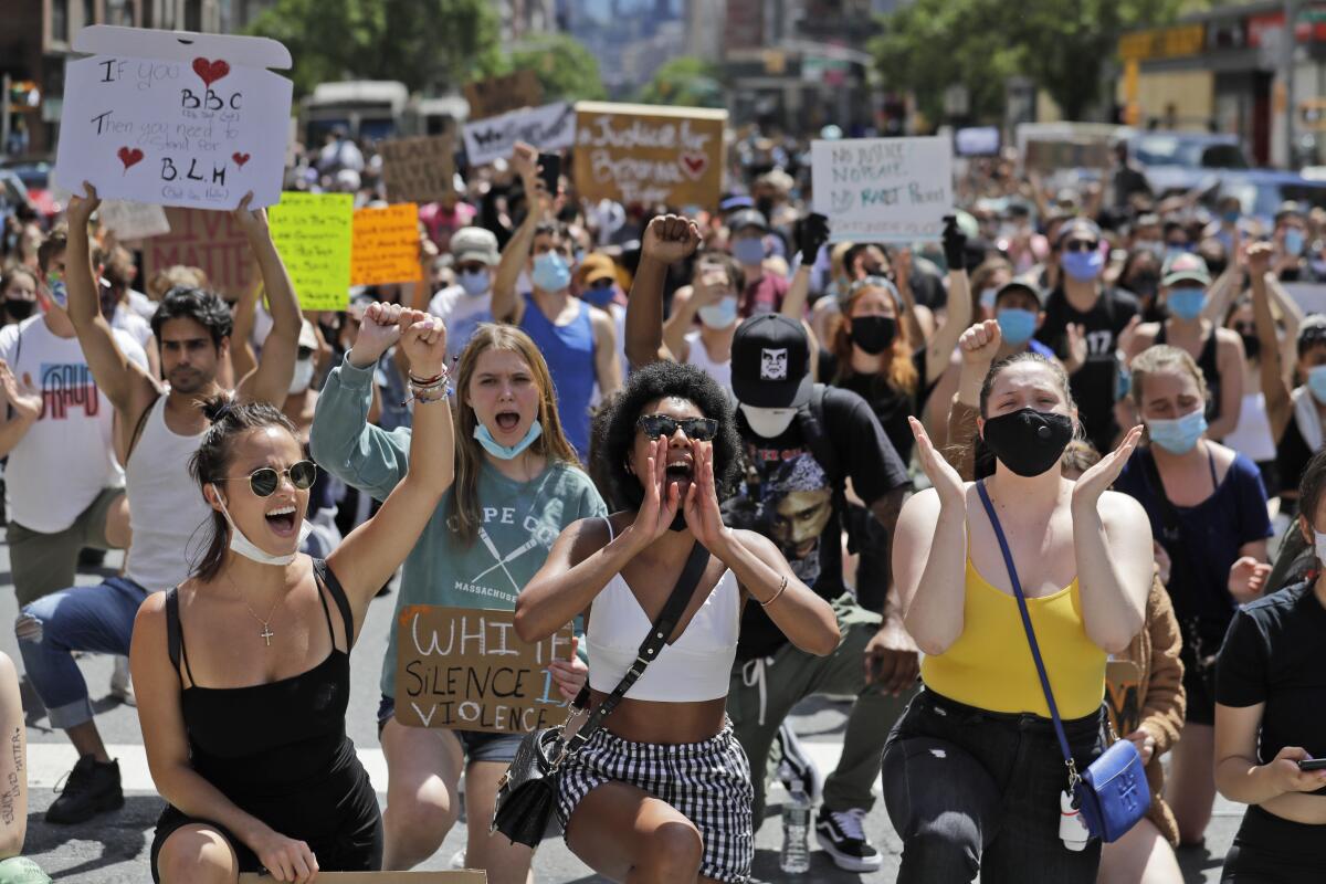
[[(375, 304), (369, 310), (383, 306)], [(328, 567), (345, 587), (359, 623), (369, 611), (369, 602), (419, 541), (456, 470), (447, 403), (447, 330), (442, 319), (419, 310), (402, 310), (399, 325), (400, 349), (410, 358), (415, 402), (410, 472), (377, 516), (353, 530), (328, 557)]]

